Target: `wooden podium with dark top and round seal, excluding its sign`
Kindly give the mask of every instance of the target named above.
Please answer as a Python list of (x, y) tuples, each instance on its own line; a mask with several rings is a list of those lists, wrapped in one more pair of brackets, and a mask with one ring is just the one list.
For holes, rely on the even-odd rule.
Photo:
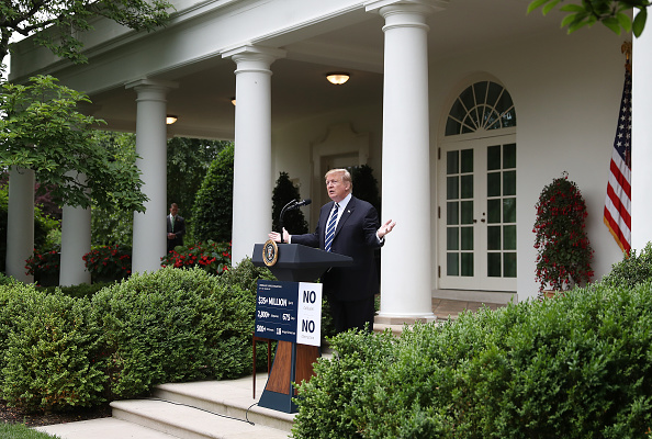
[[(263, 261), (263, 244), (254, 246), (251, 261), (256, 267), (267, 266)], [(277, 261), (268, 268), (279, 281), (314, 282), (330, 267), (346, 267), (352, 263), (353, 259), (348, 256), (299, 244), (279, 244)], [(254, 337), (254, 344), (261, 340), (260, 337)], [(296, 413), (296, 404), (292, 401), (296, 396), (296, 390), (292, 387), (292, 383), (308, 381), (313, 376), (313, 363), (321, 356), (319, 347), (279, 341), (258, 405), (279, 412)]]

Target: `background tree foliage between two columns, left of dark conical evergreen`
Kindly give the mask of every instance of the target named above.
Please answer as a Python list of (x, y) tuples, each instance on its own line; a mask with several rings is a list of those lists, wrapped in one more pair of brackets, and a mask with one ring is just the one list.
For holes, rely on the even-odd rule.
[(187, 224), (192, 224), (194, 199), (211, 162), (229, 144), (225, 140), (187, 137), (172, 137), (168, 140), (167, 205), (179, 204)]

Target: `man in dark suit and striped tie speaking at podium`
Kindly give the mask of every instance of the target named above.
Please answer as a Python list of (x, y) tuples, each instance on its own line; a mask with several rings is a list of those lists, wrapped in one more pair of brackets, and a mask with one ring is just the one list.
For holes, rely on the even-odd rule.
[[(349, 171), (329, 170), (326, 172), (326, 191), (333, 201), (322, 206), (315, 233), (289, 235), (283, 228), (284, 243), (316, 247), (353, 259), (352, 266), (334, 267), (322, 277), (337, 333), (363, 329), (367, 323), (369, 330), (373, 329), (373, 296), (379, 293), (373, 252), (384, 245), (385, 235), (396, 225), (390, 219), (379, 227), (375, 209), (352, 196), (352, 189)], [(281, 241), (277, 232), (270, 233), (269, 237)]]

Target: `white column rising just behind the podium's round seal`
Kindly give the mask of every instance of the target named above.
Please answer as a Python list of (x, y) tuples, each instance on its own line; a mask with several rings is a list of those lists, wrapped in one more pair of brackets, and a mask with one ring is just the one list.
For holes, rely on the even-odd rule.
[(271, 230), (271, 64), (283, 50), (245, 46), (225, 53), (237, 68), (233, 181), (233, 263)]

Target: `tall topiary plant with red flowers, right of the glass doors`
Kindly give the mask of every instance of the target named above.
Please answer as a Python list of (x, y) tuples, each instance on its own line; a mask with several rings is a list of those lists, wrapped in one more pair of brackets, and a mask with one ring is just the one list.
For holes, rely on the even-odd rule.
[(577, 184), (562, 177), (546, 185), (537, 202), (536, 234), (539, 292), (547, 286), (555, 291), (588, 282), (593, 249), (586, 236), (586, 203)]

